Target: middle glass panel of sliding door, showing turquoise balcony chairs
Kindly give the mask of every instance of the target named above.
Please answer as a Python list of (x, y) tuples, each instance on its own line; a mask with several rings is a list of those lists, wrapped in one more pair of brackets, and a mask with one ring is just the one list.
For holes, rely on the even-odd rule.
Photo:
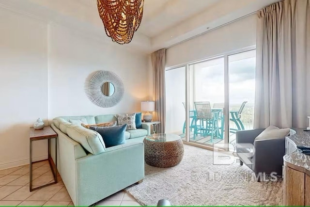
[(224, 58), (188, 65), (189, 141), (213, 146), (224, 135)]

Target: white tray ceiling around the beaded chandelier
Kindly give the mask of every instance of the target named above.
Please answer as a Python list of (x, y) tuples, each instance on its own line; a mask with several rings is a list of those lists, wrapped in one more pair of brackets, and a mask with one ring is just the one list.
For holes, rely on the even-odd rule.
[[(150, 54), (253, 13), (279, 0), (145, 0), (139, 30), (123, 48)], [(0, 7), (62, 24), (113, 43), (96, 0), (0, 0)]]

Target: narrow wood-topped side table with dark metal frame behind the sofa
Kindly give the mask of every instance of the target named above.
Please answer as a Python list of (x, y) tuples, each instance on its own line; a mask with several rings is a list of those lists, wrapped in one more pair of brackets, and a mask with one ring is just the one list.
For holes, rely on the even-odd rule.
[[(52, 138), (55, 138), (55, 165), (54, 165), (54, 162), (53, 162), (52, 157), (50, 155), (50, 139), (52, 139)], [(57, 183), (57, 142), (58, 142), (57, 139), (58, 139), (58, 136), (57, 136), (57, 133), (49, 126), (44, 127), (42, 130), (35, 130), (34, 127), (30, 127), (29, 139), (30, 139), (30, 155), (29, 155), (29, 159), (30, 159), (30, 162), (29, 162), (30, 183), (29, 183), (29, 189), (30, 189), (30, 191), (33, 191), (35, 189), (42, 188), (42, 187), (49, 186), (51, 184)], [(46, 140), (46, 139), (48, 140), (48, 145), (47, 145), (48, 157), (47, 157), (47, 159), (40, 160), (40, 161), (48, 160), (49, 166), (52, 170), (55, 181), (52, 183), (48, 183), (46, 185), (43, 185), (43, 186), (32, 188), (32, 163), (35, 163), (35, 162), (32, 162), (32, 142), (37, 141), (37, 140)], [(40, 162), (40, 161), (36, 161), (36, 162)]]

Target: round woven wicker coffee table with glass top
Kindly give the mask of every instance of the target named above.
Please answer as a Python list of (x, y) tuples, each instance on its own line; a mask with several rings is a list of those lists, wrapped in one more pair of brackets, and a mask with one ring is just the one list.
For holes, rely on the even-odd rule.
[(175, 134), (153, 134), (146, 136), (144, 159), (154, 167), (173, 167), (181, 162), (184, 146), (181, 137)]

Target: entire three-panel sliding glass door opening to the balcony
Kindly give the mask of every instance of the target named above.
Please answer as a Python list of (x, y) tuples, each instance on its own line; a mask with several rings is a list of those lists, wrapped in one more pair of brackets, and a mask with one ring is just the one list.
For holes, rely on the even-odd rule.
[(166, 133), (235, 150), (235, 133), (253, 128), (255, 49), (166, 70)]

